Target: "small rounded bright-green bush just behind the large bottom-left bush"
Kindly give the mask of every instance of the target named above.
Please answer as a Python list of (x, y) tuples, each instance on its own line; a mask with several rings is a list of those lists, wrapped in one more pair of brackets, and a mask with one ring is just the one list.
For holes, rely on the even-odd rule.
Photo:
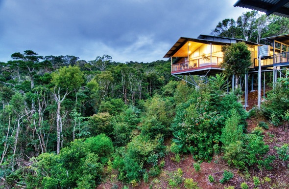
[(99, 160), (105, 164), (114, 150), (111, 139), (105, 134), (99, 134), (96, 137), (90, 137), (85, 140), (90, 152), (98, 154)]

